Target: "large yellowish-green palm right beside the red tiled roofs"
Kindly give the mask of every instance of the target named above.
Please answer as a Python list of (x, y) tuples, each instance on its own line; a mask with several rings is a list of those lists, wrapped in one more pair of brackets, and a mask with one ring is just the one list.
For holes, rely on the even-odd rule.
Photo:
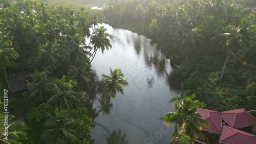
[(203, 107), (204, 104), (197, 100), (194, 101), (195, 97), (194, 94), (189, 97), (184, 94), (182, 97), (171, 99), (169, 102), (174, 103), (173, 106), (177, 112), (168, 112), (160, 117), (166, 126), (175, 123), (176, 130), (170, 143), (184, 137), (186, 140), (205, 138), (201, 129), (202, 126), (208, 127), (209, 124), (196, 112), (197, 108)]

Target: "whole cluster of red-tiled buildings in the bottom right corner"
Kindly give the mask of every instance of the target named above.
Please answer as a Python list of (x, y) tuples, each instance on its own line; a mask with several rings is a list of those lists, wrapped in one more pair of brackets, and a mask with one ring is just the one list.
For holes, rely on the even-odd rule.
[(256, 144), (256, 135), (251, 134), (256, 118), (244, 108), (223, 112), (198, 108), (197, 112), (209, 123), (209, 128), (202, 128), (207, 141), (201, 143)]

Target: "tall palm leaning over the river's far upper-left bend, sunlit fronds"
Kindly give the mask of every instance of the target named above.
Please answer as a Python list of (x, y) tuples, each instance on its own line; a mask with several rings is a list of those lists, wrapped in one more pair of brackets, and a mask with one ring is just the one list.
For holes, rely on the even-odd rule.
[[(109, 48), (112, 48), (110, 39), (108, 37), (112, 38), (110, 34), (106, 33), (106, 29), (103, 26), (95, 29), (95, 32), (93, 32), (92, 36), (92, 44), (94, 45), (94, 52), (92, 53), (92, 55), (94, 54), (93, 59), (97, 53), (97, 50), (101, 49), (101, 52), (103, 54), (105, 49), (109, 50)], [(91, 62), (93, 61), (93, 59), (91, 60)]]

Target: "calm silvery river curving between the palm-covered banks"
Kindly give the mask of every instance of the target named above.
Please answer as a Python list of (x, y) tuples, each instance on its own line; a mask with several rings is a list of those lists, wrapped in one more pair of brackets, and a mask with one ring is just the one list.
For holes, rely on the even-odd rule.
[(100, 94), (94, 99), (93, 107), (99, 112), (95, 122), (112, 133), (95, 125), (91, 133), (94, 143), (168, 143), (174, 125), (165, 127), (159, 117), (173, 111), (168, 101), (180, 93), (175, 70), (150, 39), (106, 24), (100, 26), (113, 36), (113, 48), (104, 54), (98, 51), (92, 69), (102, 79), (102, 74), (110, 75), (110, 67), (120, 68), (129, 86), (124, 87), (123, 96), (118, 93), (110, 102), (104, 102)]

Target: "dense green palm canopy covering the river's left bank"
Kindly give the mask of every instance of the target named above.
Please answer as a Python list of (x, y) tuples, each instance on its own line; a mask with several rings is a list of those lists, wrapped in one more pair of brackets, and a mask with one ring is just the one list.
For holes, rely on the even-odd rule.
[(81, 90), (91, 81), (90, 56), (111, 48), (105, 28), (95, 28), (96, 13), (84, 7), (4, 0), (0, 18), (0, 67), (31, 73), (23, 93), (30, 102), (25, 116), (29, 135), (24, 122), (12, 121), (10, 142), (88, 143), (92, 119), (80, 101), (85, 97)]

